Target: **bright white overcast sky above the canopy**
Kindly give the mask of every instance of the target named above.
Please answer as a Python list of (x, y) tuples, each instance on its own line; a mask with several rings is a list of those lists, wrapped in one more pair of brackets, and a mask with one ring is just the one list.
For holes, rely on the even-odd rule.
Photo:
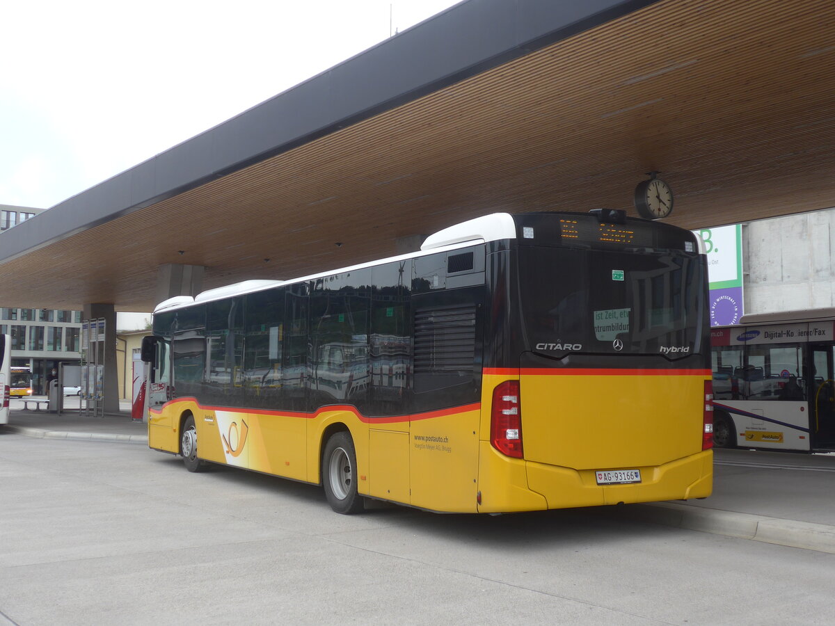
[(456, 3), (3, 0), (0, 204), (58, 204)]

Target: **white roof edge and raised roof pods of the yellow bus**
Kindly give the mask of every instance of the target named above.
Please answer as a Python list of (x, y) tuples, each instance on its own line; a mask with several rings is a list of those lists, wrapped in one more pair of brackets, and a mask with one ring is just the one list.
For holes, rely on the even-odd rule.
[[(180, 309), (184, 306), (196, 304), (198, 302), (205, 303), (212, 300), (222, 300), (223, 298), (229, 298), (234, 295), (251, 294), (256, 291), (270, 289), (271, 287), (275, 287), (277, 285), (292, 285), (293, 283), (306, 282), (307, 280), (316, 280), (317, 278), (329, 276), (331, 274), (342, 274), (343, 272), (364, 270), (368, 267), (374, 267), (375, 265), (382, 265), (383, 263), (414, 259), (420, 256), (445, 252), (447, 250), (459, 250), (461, 248), (466, 248), (469, 245), (483, 244), (486, 241), (515, 238), (516, 227), (514, 225), (514, 219), (509, 213), (484, 215), (483, 217), (476, 218), (475, 220), (468, 220), (461, 224), (450, 226), (447, 229), (438, 231), (438, 233), (435, 233), (434, 235), (429, 235), (421, 246), (421, 250), (418, 252), (392, 256), (387, 259), (374, 260), (360, 265), (351, 265), (337, 270), (320, 272), (319, 274), (301, 276), (301, 278), (294, 278), (291, 280), (243, 280), (240, 283), (234, 283), (232, 285), (225, 285), (216, 289), (202, 291), (194, 298), (190, 295), (175, 295), (173, 298), (164, 300), (160, 302), (159, 305), (156, 305), (154, 313), (159, 313), (163, 310)], [(427, 245), (427, 242), (429, 242), (429, 245)]]

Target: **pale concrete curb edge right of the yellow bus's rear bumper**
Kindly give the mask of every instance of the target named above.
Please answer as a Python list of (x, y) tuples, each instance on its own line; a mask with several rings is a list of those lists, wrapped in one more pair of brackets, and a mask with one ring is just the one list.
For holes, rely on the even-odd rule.
[(626, 511), (630, 517), (643, 522), (835, 554), (835, 527), (826, 524), (721, 511), (677, 502), (641, 504)]

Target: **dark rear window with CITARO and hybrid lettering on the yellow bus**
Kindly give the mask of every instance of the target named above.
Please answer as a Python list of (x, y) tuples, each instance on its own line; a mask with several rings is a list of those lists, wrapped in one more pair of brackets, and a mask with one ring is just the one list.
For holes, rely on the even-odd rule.
[(696, 353), (704, 320), (702, 271), (698, 256), (668, 250), (520, 248), (526, 347), (558, 358)]

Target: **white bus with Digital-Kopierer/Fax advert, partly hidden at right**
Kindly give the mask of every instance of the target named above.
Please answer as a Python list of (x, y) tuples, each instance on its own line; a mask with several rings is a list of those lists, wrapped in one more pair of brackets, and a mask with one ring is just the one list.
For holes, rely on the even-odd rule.
[(714, 445), (835, 450), (835, 309), (711, 328)]

